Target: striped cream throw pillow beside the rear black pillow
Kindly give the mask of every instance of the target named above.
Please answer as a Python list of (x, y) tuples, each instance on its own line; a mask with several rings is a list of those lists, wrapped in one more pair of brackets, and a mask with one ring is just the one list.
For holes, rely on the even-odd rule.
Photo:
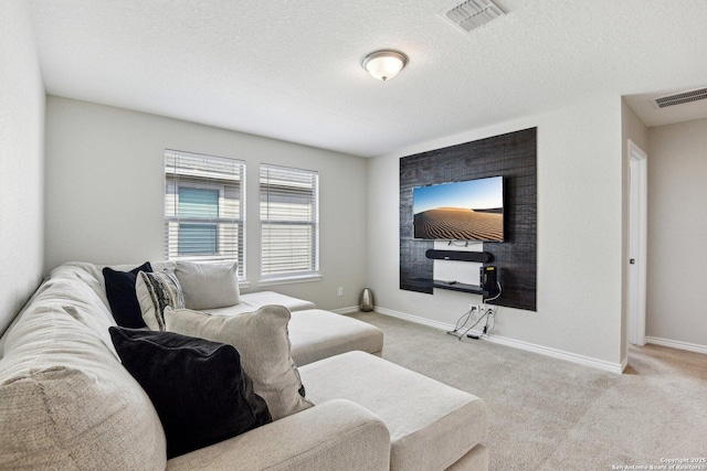
[(184, 307), (181, 285), (171, 270), (155, 274), (140, 271), (135, 282), (137, 301), (140, 304), (143, 320), (150, 330), (165, 330), (165, 308)]

